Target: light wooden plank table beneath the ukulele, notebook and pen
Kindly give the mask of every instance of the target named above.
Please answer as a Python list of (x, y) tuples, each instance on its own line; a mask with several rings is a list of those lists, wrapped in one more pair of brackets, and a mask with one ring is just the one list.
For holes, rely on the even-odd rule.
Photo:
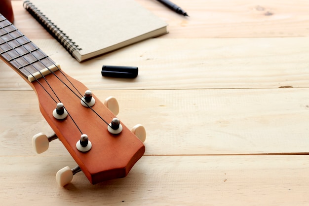
[[(137, 0), (169, 34), (77, 63), (13, 0), (15, 26), (104, 100), (147, 129), (125, 178), (91, 185), (51, 133), (30, 86), (0, 63), (0, 205), (309, 205), (309, 1), (175, 0), (189, 18)], [(81, 1), (82, 2), (82, 1)], [(139, 67), (136, 79), (102, 65)]]

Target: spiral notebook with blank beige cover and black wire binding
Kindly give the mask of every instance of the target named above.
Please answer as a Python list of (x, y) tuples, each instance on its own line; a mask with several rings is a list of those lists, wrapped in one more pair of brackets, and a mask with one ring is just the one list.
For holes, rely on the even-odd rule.
[(78, 62), (167, 33), (134, 0), (26, 0), (24, 8)]

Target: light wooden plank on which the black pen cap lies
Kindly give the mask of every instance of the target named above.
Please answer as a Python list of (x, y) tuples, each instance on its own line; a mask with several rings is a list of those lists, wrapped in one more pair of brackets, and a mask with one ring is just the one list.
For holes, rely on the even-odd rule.
[[(78, 63), (56, 40), (34, 40), (91, 89), (309, 87), (309, 41), (300, 38), (151, 39)], [(101, 76), (103, 65), (136, 66), (135, 79)], [(29, 90), (0, 62), (3, 90)]]

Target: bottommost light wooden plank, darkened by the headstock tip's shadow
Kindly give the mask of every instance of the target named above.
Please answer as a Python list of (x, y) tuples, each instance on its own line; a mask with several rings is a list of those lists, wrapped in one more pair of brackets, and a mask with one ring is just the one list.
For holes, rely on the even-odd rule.
[(0, 157), (1, 205), (308, 205), (308, 156), (144, 156), (129, 175), (55, 181), (71, 157)]

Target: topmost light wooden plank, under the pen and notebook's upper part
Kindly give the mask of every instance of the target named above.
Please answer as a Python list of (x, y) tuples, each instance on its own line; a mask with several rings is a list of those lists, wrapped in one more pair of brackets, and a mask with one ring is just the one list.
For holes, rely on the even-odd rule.
[[(22, 6), (13, 0), (15, 25), (30, 38), (51, 38)], [(186, 18), (156, 1), (137, 0), (168, 23), (160, 38), (288, 37), (308, 36), (306, 0), (177, 0)]]

